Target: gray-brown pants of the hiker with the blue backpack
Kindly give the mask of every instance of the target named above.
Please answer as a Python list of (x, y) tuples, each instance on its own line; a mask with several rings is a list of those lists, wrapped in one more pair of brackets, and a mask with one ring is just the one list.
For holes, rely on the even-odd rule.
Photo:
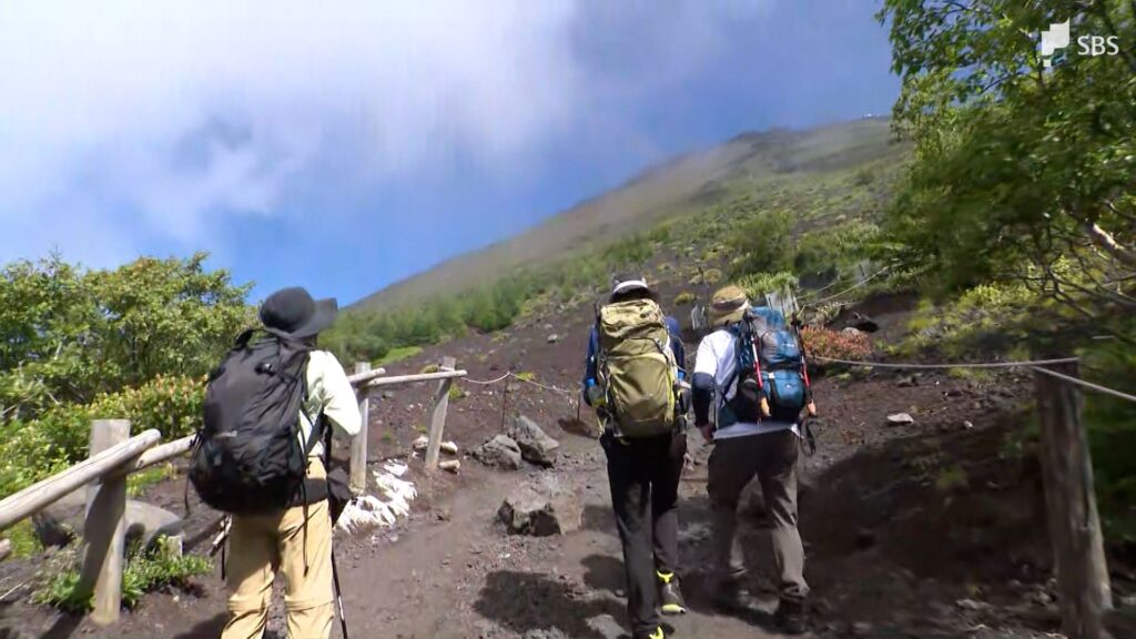
[(809, 594), (804, 582), (804, 548), (796, 530), (799, 450), (799, 438), (791, 430), (716, 440), (707, 484), (713, 508), (715, 569), (726, 584), (737, 584), (745, 575), (741, 549), (734, 539), (737, 501), (754, 476), (761, 482), (774, 526), (780, 598), (788, 603), (803, 603)]

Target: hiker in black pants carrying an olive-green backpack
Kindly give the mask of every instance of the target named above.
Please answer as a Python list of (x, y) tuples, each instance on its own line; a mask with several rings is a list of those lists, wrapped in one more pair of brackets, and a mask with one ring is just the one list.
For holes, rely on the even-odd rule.
[(608, 456), (635, 639), (662, 639), (659, 613), (686, 612), (675, 574), (690, 403), (679, 390), (685, 352), (678, 332), (646, 281), (621, 275), (587, 345), (584, 400), (603, 424), (600, 443)]

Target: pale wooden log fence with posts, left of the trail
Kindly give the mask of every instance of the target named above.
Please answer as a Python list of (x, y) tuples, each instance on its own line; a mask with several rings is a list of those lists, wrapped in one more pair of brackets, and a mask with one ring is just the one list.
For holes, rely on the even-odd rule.
[[(438, 448), (445, 426), (450, 387), (465, 371), (456, 371), (454, 360), (446, 357), (437, 373), (384, 376), (383, 368), (356, 365), (348, 381), (356, 388), (362, 413), (362, 429), (351, 441), (351, 484), (356, 492), (367, 487), (368, 404), (370, 389), (440, 381), (431, 408), (431, 442), (426, 450), (426, 470), (437, 468)], [(159, 445), (161, 433), (148, 430), (130, 435), (126, 420), (97, 420), (91, 425), (90, 457), (50, 478), (0, 500), (0, 531), (39, 513), (52, 503), (87, 487), (86, 514), (83, 524), (83, 565), (80, 584), (93, 596), (91, 620), (106, 625), (118, 620), (122, 609), (122, 579), (125, 541), (126, 475), (142, 468), (185, 455), (193, 448), (194, 435)], [(0, 540), (0, 559), (11, 549)]]

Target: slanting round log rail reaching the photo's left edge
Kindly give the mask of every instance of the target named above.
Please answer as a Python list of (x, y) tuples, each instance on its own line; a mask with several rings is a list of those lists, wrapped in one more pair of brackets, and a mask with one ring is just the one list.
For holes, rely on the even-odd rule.
[(144, 450), (161, 440), (161, 433), (149, 430), (124, 443), (105, 450), (89, 459), (9, 495), (0, 501), (0, 530), (34, 515), (49, 504), (69, 495), (87, 483), (116, 471), (136, 459)]

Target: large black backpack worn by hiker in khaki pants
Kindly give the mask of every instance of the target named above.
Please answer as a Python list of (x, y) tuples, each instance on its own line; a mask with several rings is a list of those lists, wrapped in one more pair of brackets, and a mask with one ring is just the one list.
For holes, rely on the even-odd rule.
[(307, 446), (299, 438), (310, 350), (282, 334), (249, 330), (209, 375), (189, 471), (202, 501), (241, 515), (293, 505), (320, 439), (321, 420), (309, 422)]

